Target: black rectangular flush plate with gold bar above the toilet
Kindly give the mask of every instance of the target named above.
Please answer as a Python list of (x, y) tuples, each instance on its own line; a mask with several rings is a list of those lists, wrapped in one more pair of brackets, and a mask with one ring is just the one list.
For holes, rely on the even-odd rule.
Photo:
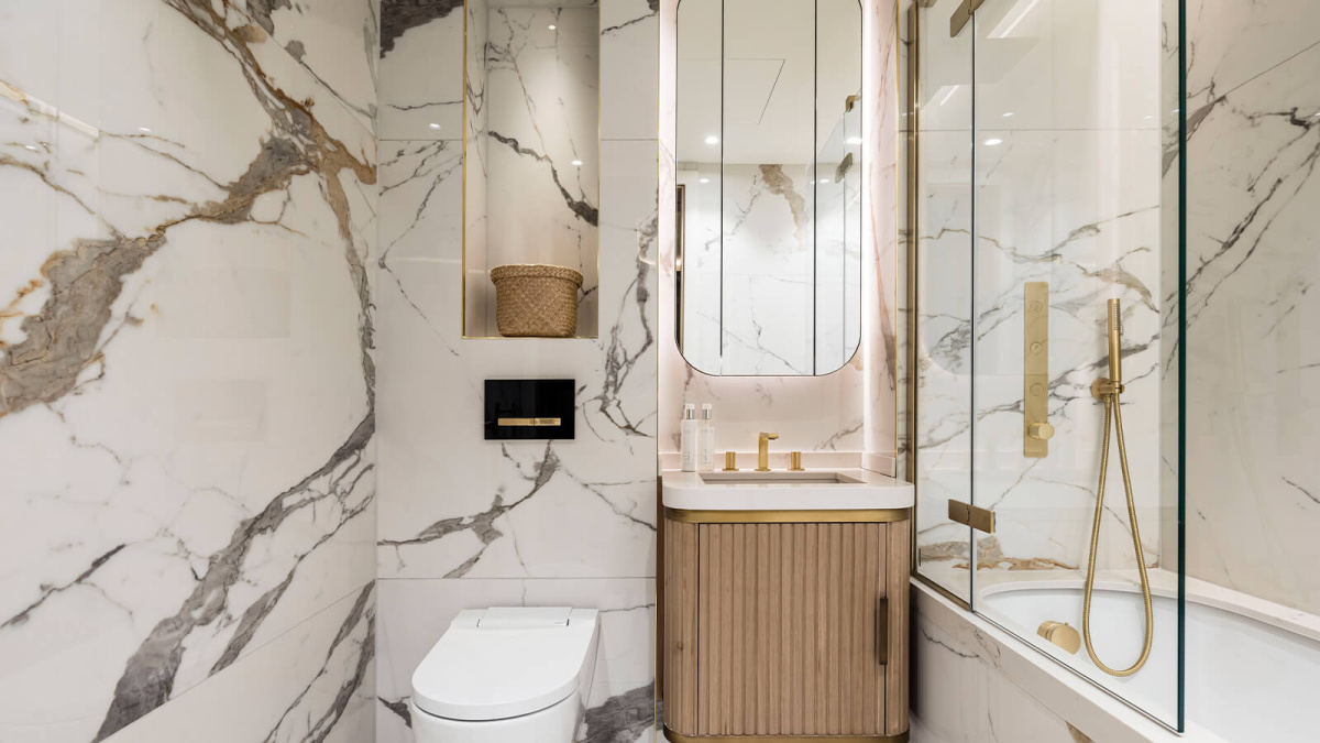
[(486, 440), (572, 439), (573, 379), (486, 379)]

